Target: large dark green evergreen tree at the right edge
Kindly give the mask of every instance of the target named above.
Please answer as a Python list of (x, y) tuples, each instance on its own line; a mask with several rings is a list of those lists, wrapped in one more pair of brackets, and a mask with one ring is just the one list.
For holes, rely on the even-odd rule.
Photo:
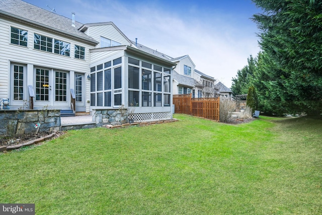
[[(322, 1), (253, 0), (261, 30), (254, 78), (260, 103), (282, 113), (322, 113)], [(259, 60), (259, 61), (260, 61)]]

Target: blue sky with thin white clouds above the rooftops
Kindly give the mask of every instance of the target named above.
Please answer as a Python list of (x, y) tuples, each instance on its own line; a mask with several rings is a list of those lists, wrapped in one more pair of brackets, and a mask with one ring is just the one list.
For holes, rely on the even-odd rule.
[[(227, 87), (256, 56), (260, 13), (251, 0), (24, 0), (81, 23), (113, 22), (130, 40), (172, 57), (188, 54), (196, 69)], [(48, 5), (48, 7), (47, 7)]]

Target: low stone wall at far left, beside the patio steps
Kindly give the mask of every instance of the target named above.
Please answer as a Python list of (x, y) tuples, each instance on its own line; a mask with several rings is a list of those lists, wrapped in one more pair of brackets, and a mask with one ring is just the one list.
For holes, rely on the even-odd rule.
[(36, 132), (59, 131), (59, 110), (1, 110), (0, 135), (17, 135)]

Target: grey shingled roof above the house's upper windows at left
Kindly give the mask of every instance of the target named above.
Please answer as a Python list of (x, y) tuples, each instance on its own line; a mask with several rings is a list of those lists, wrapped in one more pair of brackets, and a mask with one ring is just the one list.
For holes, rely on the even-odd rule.
[[(0, 14), (7, 15), (12, 19), (18, 19), (21, 22), (32, 23), (37, 26), (41, 26), (42, 28), (51, 29), (78, 39), (98, 44), (98, 41), (78, 30), (83, 26), (82, 23), (75, 21), (75, 27), (72, 27), (71, 19), (21, 0), (1, 0)], [(71, 13), (70, 17), (72, 17)]]

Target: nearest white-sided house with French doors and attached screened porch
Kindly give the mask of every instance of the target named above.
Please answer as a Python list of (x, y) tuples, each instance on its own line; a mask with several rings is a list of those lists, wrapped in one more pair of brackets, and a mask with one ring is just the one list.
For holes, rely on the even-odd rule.
[(112, 22), (84, 25), (20, 0), (0, 2), (0, 22), (0, 98), (12, 109), (33, 93), (35, 109), (70, 109), (74, 93), (76, 112), (135, 105), (141, 121), (172, 118), (176, 63)]

